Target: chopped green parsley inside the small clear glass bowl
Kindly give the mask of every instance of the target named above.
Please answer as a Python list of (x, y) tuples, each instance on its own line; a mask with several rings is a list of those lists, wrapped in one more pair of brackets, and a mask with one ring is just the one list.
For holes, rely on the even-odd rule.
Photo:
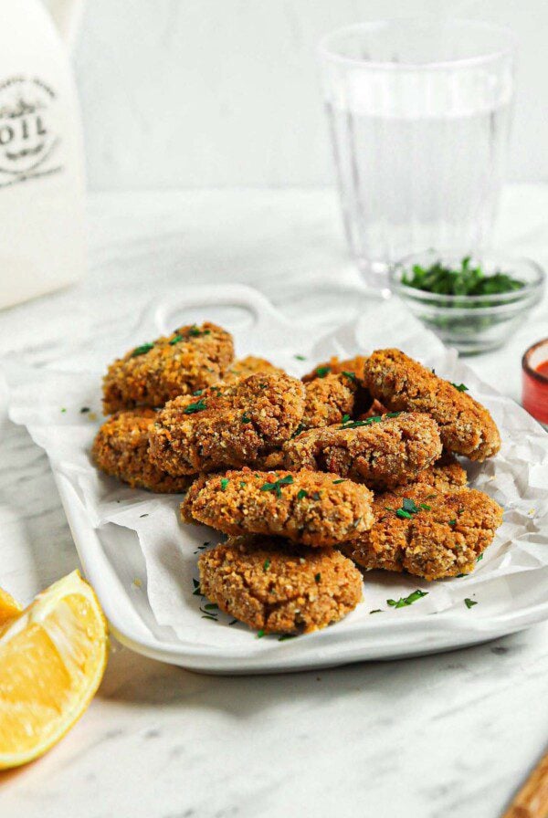
[(416, 264), (411, 272), (402, 276), (402, 284), (425, 292), (444, 296), (491, 296), (522, 289), (525, 284), (519, 278), (497, 270), (486, 275), (478, 265), (470, 264), (470, 257), (464, 257), (460, 267), (446, 267), (441, 260), (430, 267)]

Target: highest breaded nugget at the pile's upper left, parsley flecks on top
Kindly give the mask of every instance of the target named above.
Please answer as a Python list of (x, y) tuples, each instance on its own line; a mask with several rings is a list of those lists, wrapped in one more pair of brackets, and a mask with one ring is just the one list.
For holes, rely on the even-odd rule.
[(103, 378), (105, 414), (134, 406), (163, 406), (179, 394), (216, 383), (234, 360), (232, 336), (205, 322), (127, 352)]

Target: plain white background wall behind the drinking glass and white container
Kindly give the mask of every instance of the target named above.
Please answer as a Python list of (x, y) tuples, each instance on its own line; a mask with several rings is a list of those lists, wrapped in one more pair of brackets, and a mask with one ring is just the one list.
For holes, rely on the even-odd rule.
[(330, 183), (316, 42), (416, 13), (512, 27), (509, 175), (548, 181), (548, 0), (88, 0), (75, 67), (90, 189)]

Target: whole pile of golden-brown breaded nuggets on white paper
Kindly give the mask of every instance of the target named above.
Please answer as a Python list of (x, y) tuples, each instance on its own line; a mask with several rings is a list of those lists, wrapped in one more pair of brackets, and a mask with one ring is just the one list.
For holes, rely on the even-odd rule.
[(364, 570), (471, 572), (501, 525), (456, 457), (498, 452), (489, 412), (396, 349), (298, 380), (235, 361), (230, 334), (206, 322), (113, 362), (103, 394), (97, 466), (186, 492), (184, 522), (227, 535), (199, 558), (201, 593), (264, 634), (342, 619)]

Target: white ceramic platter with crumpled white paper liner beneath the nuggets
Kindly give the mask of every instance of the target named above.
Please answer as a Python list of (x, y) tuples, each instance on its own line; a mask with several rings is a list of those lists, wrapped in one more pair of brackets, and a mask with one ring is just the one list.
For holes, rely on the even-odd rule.
[[(398, 309), (395, 304), (387, 307), (383, 302), (373, 302), (366, 308), (364, 320), (334, 332), (330, 330), (318, 342), (319, 330), (311, 329), (313, 322), (305, 319), (295, 327), (254, 290), (236, 286), (195, 288), (186, 290), (175, 306), (172, 302), (151, 309), (129, 340), (128, 346), (153, 337), (153, 332), (170, 330), (184, 320), (199, 322), (207, 318), (234, 332), (238, 355), (262, 355), (295, 374), (305, 372), (321, 357), (333, 353), (353, 355), (372, 347), (399, 346), (428, 365), (435, 362), (440, 367), (437, 371), (447, 377), (469, 383), (471, 392), (488, 404), (501, 425), (503, 437), (510, 441), (505, 444), (505, 455), (500, 460), (470, 468), (473, 484), (503, 500), (508, 517), (501, 535), (476, 572), (467, 578), (430, 584), (373, 572), (365, 577), (365, 602), (346, 620), (321, 632), (281, 642), (276, 637), (258, 639), (239, 624), (230, 627), (223, 614), (216, 622), (204, 620), (199, 610), (200, 598), (192, 593), (189, 572), (195, 570), (197, 545), (205, 539), (216, 540), (210, 530), (174, 522), (168, 546), (176, 558), (175, 568), (162, 574), (165, 566), (157, 566), (151, 561), (150, 549), (141, 547), (141, 531), (138, 535), (131, 523), (121, 519), (125, 513), (131, 519), (150, 516), (160, 520), (159, 524), (164, 519), (175, 520), (180, 498), (130, 492), (111, 478), (100, 477), (105, 481), (100, 484), (101, 490), (104, 488), (102, 505), (92, 513), (89, 492), (82, 488), (85, 485), (82, 480), (89, 469), (86, 458), (95, 428), (80, 428), (83, 421), (75, 418), (60, 443), (61, 421), (56, 419), (54, 434), (47, 408), (47, 382), (41, 386), (40, 409), (30, 409), (28, 398), (37, 385), (20, 372), (14, 385), (14, 371), (6, 372), (8, 383), (12, 382), (10, 414), (16, 423), (25, 424), (38, 445), (47, 450), (83, 571), (98, 593), (112, 632), (121, 643), (144, 655), (197, 671), (269, 673), (449, 650), (510, 634), (548, 618), (546, 516), (535, 515), (531, 508), (535, 502), (540, 506), (539, 498), (546, 496), (548, 435), (509, 399), (480, 383), (454, 353), (445, 350), (433, 335)], [(122, 351), (123, 348), (98, 351), (97, 367), (103, 362), (104, 368), (105, 361)], [(297, 352), (306, 353), (308, 360), (297, 361)], [(86, 362), (85, 368), (90, 365)], [(59, 377), (67, 378), (67, 372)], [(86, 373), (85, 377), (89, 380), (91, 376)], [(92, 377), (92, 385), (84, 384), (81, 394), (86, 388), (95, 390), (95, 404), (99, 404), (99, 379), (95, 374)], [(78, 376), (73, 380), (78, 381)], [(77, 384), (75, 389), (78, 388)], [(79, 396), (75, 397), (75, 401), (78, 399)], [(74, 445), (69, 435), (76, 435)], [(523, 437), (529, 441), (526, 450), (522, 450)], [(508, 465), (512, 458), (515, 467)], [(527, 470), (526, 477), (523, 469)], [(115, 503), (121, 504), (119, 519)], [(147, 513), (136, 513), (142, 509), (147, 509)], [(149, 522), (149, 528), (151, 525)], [(179, 584), (178, 565), (182, 566), (181, 576), (184, 574), (184, 582)], [(162, 587), (158, 584), (162, 575), (167, 578), (166, 598), (173, 597), (176, 608), (173, 627), (168, 624), (171, 603), (163, 604)], [(409, 593), (416, 587), (428, 590), (426, 600), (397, 610), (382, 605), (386, 598)], [(478, 604), (470, 610), (464, 604), (465, 597), (475, 598)], [(370, 615), (369, 610), (377, 607), (383, 607), (383, 613)]]

